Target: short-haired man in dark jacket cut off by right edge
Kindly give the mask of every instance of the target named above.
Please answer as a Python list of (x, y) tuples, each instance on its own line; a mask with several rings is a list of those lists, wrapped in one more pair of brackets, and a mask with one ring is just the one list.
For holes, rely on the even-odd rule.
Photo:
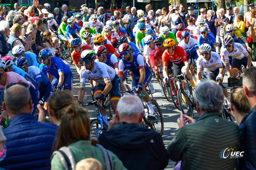
[[(248, 117), (244, 121), (244, 162), (241, 162), (241, 169), (256, 169), (256, 67), (246, 69), (243, 76), (243, 89), (251, 110)], [(239, 159), (240, 161), (240, 159)]]

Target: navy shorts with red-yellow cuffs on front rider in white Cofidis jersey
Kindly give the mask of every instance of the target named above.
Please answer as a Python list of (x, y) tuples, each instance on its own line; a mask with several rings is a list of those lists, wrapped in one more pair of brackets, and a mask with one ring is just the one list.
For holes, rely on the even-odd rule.
[[(110, 101), (118, 101), (121, 98), (121, 89), (120, 89), (120, 78), (116, 75), (115, 78), (111, 81), (112, 88), (110, 90)], [(97, 93), (102, 93), (106, 85), (98, 84), (94, 88), (94, 96)]]

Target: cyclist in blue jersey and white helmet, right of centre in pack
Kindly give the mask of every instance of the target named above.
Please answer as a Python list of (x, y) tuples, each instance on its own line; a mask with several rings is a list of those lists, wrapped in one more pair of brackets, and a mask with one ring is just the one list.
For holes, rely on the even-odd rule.
[[(218, 43), (216, 42), (216, 39), (214, 38), (214, 35), (212, 33), (207, 32), (207, 28), (205, 26), (202, 26), (200, 28), (200, 35), (197, 38), (197, 44), (200, 47), (202, 44), (207, 43), (212, 47), (212, 51), (220, 54), (220, 48)], [(214, 47), (215, 46), (215, 47)], [(216, 49), (215, 49), (216, 48)]]

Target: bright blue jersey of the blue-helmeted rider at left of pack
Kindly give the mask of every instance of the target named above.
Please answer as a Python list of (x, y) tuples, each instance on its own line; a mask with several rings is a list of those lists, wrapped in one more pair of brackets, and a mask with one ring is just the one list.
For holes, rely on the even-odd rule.
[(59, 78), (59, 72), (63, 71), (64, 76), (70, 72), (70, 68), (68, 65), (66, 65), (60, 58), (58, 57), (52, 57), (52, 65), (51, 68), (47, 65), (43, 65), (43, 63), (40, 65), (39, 69), (42, 73), (46, 74), (49, 73), (53, 77)]

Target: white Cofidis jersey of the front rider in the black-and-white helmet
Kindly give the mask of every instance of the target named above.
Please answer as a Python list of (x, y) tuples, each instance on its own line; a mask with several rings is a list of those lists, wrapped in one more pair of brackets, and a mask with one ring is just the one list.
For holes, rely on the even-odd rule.
[(111, 82), (116, 76), (116, 70), (105, 63), (95, 60), (92, 71), (86, 70), (84, 66), (80, 70), (80, 88), (85, 88), (86, 78), (92, 79), (99, 84), (105, 85)]

